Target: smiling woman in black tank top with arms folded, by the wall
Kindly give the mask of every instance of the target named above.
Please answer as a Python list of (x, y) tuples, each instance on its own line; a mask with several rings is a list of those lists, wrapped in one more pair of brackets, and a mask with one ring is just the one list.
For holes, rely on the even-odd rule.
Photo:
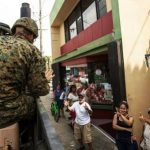
[(128, 103), (122, 101), (113, 118), (113, 129), (116, 130), (116, 145), (118, 150), (135, 150), (132, 140), (134, 119), (128, 114)]

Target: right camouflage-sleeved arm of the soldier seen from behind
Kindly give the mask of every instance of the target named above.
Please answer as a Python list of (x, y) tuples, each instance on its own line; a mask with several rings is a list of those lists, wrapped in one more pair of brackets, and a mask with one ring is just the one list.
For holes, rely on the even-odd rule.
[(45, 76), (46, 65), (41, 53), (34, 51), (28, 71), (28, 89), (32, 95), (44, 96), (49, 93), (48, 80)]

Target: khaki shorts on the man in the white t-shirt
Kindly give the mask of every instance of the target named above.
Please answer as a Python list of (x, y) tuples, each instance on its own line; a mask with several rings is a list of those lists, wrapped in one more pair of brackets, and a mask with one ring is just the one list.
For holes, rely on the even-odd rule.
[(91, 123), (85, 125), (74, 124), (74, 137), (76, 140), (81, 140), (83, 143), (91, 143)]

